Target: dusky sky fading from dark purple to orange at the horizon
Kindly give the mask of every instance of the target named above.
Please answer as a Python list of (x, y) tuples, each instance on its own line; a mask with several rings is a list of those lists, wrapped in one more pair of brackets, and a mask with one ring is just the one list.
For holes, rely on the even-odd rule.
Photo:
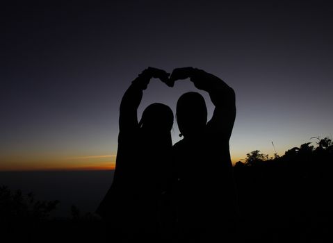
[[(148, 66), (198, 67), (234, 88), (234, 162), (255, 149), (273, 156), (272, 141), (283, 155), (332, 136), (329, 1), (10, 2), (0, 17), (0, 170), (113, 167), (122, 94)], [(190, 90), (153, 80), (139, 116), (152, 102), (175, 110)]]

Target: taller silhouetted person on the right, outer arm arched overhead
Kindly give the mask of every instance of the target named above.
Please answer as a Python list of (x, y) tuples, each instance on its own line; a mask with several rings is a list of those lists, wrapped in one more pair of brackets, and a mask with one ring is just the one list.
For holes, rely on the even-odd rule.
[(185, 78), (209, 93), (215, 110), (207, 122), (206, 104), (197, 92), (185, 93), (177, 102), (177, 123), (184, 136), (173, 146), (179, 242), (221, 242), (232, 237), (237, 212), (229, 153), (235, 93), (220, 78), (192, 67), (174, 69), (170, 82)]

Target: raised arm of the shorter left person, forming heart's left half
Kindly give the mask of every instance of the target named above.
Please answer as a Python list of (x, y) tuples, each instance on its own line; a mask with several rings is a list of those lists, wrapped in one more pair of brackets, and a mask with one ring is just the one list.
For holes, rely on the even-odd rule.
[(143, 98), (143, 90), (147, 88), (152, 78), (160, 78), (161, 81), (168, 83), (169, 75), (162, 69), (148, 67), (132, 81), (120, 103), (120, 131), (133, 131), (139, 128), (138, 106), (140, 106), (141, 99)]

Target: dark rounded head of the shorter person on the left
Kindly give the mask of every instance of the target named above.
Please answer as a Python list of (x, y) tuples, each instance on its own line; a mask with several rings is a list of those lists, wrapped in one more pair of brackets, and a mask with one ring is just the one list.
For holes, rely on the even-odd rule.
[(173, 125), (173, 112), (163, 103), (152, 103), (143, 111), (139, 126), (147, 133), (169, 133)]

